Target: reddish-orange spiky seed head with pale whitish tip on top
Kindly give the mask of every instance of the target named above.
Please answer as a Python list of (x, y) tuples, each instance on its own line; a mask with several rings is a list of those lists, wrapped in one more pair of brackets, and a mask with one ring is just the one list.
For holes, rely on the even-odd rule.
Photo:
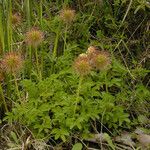
[(92, 69), (86, 54), (80, 54), (78, 58), (75, 59), (73, 67), (79, 76), (85, 76), (89, 74)]

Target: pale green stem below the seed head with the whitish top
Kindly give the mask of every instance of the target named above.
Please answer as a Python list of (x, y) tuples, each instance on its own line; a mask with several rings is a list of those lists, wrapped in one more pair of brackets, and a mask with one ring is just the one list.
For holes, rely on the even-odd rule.
[(80, 89), (81, 89), (82, 81), (83, 81), (83, 76), (80, 76), (79, 77), (79, 84), (78, 84), (78, 88), (77, 88), (77, 92), (76, 92), (74, 115), (76, 113), (77, 105), (78, 105), (78, 102), (79, 102), (79, 96), (80, 96)]

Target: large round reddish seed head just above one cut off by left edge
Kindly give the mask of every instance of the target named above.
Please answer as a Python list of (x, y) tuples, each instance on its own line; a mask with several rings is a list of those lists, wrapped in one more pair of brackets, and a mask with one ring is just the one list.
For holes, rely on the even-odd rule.
[(17, 73), (23, 67), (21, 55), (16, 52), (8, 52), (4, 55), (1, 68), (7, 73)]

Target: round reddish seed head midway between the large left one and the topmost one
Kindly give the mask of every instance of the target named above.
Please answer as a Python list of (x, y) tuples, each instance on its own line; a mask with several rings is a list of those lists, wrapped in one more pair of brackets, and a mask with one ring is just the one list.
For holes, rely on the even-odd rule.
[(26, 33), (25, 41), (27, 45), (37, 47), (43, 41), (44, 35), (43, 32), (36, 28), (32, 28)]

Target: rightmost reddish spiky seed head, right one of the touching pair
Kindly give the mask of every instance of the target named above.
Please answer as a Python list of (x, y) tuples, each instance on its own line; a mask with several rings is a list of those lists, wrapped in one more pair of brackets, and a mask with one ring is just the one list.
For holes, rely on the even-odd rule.
[(99, 51), (99, 54), (91, 58), (91, 65), (98, 70), (105, 70), (110, 65), (110, 57), (108, 52)]

